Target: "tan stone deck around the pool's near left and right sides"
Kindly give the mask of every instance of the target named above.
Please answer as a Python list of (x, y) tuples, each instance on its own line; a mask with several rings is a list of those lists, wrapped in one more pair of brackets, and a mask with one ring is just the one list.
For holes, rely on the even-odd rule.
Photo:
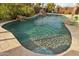
[[(60, 56), (79, 56), (79, 27), (65, 24), (71, 32), (72, 44), (70, 48), (58, 54)], [(25, 49), (17, 39), (7, 30), (0, 26), (0, 56), (42, 56)], [(58, 56), (57, 55), (57, 56)]]

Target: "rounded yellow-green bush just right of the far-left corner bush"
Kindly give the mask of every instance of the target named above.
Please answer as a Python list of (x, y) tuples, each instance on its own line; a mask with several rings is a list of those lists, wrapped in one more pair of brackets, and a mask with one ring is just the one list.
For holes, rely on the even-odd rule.
[(33, 7), (21, 6), (18, 7), (17, 14), (29, 17), (29, 16), (33, 16), (35, 14), (35, 11)]

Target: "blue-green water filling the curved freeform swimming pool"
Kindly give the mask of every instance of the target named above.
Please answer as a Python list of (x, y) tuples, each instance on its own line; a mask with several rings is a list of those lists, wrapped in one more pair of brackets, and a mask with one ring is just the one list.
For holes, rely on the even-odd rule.
[(2, 27), (10, 31), (27, 49), (44, 55), (56, 55), (71, 45), (71, 34), (61, 15), (36, 16), (14, 21)]

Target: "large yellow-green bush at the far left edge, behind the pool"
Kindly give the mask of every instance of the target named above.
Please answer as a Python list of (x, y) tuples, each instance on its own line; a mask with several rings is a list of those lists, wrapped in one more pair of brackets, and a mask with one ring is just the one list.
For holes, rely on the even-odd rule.
[(12, 4), (0, 4), (0, 20), (10, 20), (16, 17), (16, 8)]

